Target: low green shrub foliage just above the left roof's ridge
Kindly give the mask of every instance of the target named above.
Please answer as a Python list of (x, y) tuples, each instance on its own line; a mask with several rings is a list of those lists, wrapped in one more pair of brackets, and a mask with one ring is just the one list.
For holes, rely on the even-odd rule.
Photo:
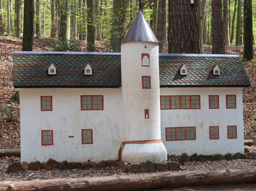
[(80, 43), (75, 40), (56, 39), (56, 46), (47, 47), (50, 51), (76, 52), (79, 51)]

